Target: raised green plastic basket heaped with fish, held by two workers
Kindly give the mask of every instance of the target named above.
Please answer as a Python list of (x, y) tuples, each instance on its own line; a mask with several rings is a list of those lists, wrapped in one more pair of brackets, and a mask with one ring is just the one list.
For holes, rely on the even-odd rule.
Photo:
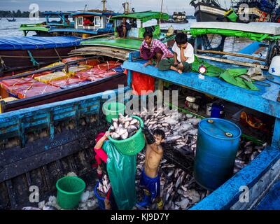
[[(140, 127), (144, 126), (144, 122), (141, 118), (137, 116), (130, 116), (130, 117), (139, 120)], [(139, 128), (139, 130), (132, 137), (128, 139), (116, 140), (116, 139), (112, 139), (109, 136), (109, 140), (113, 142), (113, 144), (116, 146), (118, 151), (120, 151), (120, 153), (123, 153), (123, 155), (136, 155), (145, 147), (144, 134), (142, 133), (141, 128)]]

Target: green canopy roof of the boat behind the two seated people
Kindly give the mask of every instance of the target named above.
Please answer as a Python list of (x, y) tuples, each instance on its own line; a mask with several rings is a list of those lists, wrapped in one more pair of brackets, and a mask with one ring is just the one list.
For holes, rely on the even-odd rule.
[(139, 12), (139, 13), (127, 13), (113, 16), (113, 20), (118, 20), (122, 18), (132, 18), (140, 20), (141, 22), (147, 22), (149, 20), (168, 20), (169, 15), (167, 13), (160, 13), (160, 12), (153, 12), (153, 11), (146, 11), (146, 12)]

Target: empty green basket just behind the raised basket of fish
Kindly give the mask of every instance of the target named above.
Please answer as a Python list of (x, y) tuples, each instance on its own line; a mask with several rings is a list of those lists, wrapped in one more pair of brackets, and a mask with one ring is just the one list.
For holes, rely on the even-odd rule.
[(105, 103), (103, 104), (103, 112), (106, 116), (106, 120), (112, 123), (113, 118), (118, 118), (119, 113), (125, 114), (125, 104), (122, 103)]

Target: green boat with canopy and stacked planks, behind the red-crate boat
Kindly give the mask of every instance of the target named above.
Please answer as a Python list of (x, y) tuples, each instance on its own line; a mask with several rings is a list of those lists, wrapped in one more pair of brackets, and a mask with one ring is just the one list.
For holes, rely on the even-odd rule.
[(166, 36), (160, 30), (160, 20), (168, 20), (169, 18), (166, 13), (145, 11), (115, 15), (111, 18), (114, 27), (118, 27), (123, 18), (127, 18), (127, 20), (130, 20), (130, 24), (133, 24), (132, 29), (127, 32), (126, 38), (118, 38), (116, 31), (113, 34), (104, 34), (104, 36), (97, 38), (92, 37), (81, 43), (81, 46), (85, 46), (84, 48), (73, 50), (71, 55), (101, 54), (125, 60), (128, 57), (128, 52), (139, 50), (146, 29), (151, 29), (153, 31), (153, 37), (160, 39), (160, 41), (167, 43), (167, 45), (170, 43), (169, 41), (174, 42), (175, 35)]

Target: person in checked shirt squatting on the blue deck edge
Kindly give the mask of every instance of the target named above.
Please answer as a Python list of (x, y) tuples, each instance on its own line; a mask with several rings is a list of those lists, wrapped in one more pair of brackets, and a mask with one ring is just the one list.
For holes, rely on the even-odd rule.
[(153, 33), (151, 31), (145, 31), (144, 41), (140, 46), (140, 57), (148, 60), (144, 66), (153, 64), (155, 59), (155, 67), (161, 67), (162, 59), (172, 58), (174, 55), (168, 50), (167, 45), (162, 43), (158, 39), (153, 39)]

